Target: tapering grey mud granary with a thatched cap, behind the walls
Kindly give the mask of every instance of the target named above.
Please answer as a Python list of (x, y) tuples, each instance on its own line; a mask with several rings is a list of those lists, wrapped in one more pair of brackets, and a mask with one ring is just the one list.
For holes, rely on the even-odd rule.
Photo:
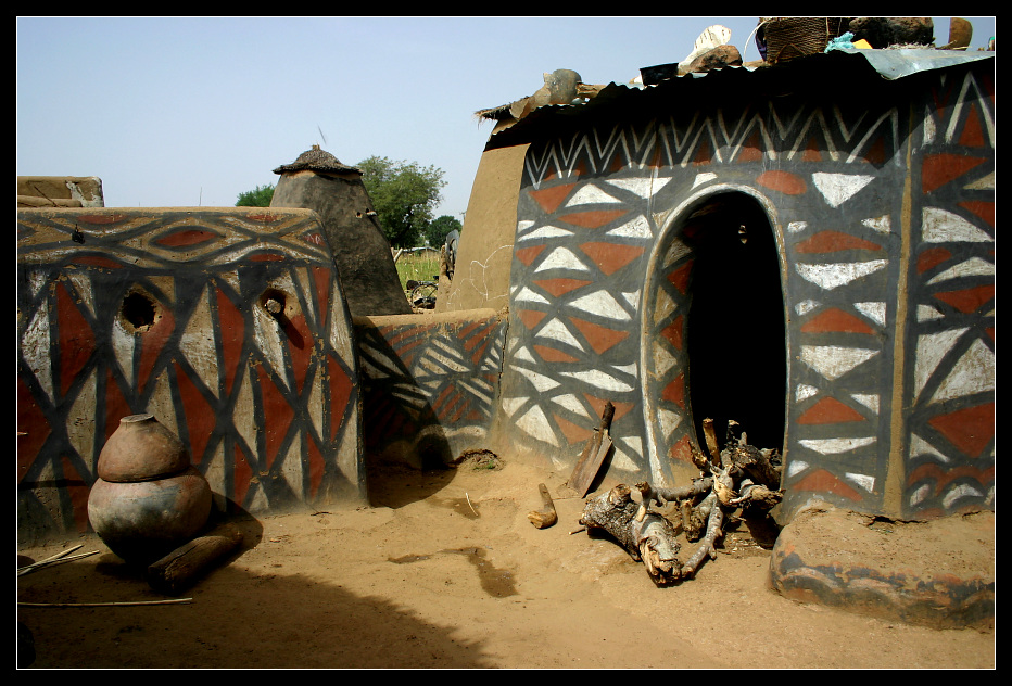
[(412, 314), (362, 170), (313, 145), (274, 173), (281, 178), (271, 207), (319, 215), (352, 316)]

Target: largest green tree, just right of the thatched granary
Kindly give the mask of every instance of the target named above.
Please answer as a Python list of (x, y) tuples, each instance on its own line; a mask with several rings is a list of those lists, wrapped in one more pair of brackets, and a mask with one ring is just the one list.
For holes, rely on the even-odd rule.
[(362, 169), (362, 182), (390, 244), (418, 245), (442, 200), (440, 190), (446, 186), (443, 170), (376, 155), (355, 166)]

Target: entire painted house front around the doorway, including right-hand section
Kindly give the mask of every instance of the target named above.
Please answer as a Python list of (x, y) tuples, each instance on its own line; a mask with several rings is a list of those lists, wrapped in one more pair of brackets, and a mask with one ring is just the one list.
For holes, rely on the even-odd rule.
[(886, 80), (838, 58), (612, 89), (493, 137), (530, 142), (502, 435), (569, 468), (610, 401), (612, 474), (694, 474), (696, 225), (745, 201), (772, 232), (783, 323), (735, 330), (729, 303), (726, 327), (742, 346), (784, 336), (785, 384), (744, 368), (728, 392), (782, 403), (786, 508), (994, 508), (994, 63)]

